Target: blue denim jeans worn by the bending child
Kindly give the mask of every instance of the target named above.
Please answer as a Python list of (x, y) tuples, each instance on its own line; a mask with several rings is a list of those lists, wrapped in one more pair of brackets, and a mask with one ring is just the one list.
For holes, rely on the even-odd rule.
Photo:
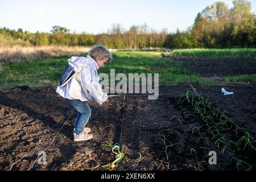
[(90, 110), (87, 102), (82, 102), (80, 100), (69, 100), (67, 98), (64, 98), (64, 100), (67, 101), (68, 104), (74, 107), (78, 112), (74, 131), (77, 135), (79, 135), (82, 133), (82, 131), (84, 131), (84, 127), (89, 121), (92, 110)]

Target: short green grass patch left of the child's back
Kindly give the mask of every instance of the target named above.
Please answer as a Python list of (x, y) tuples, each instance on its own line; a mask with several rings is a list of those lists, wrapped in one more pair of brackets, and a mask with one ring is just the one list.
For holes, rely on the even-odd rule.
[(0, 88), (5, 89), (19, 85), (56, 85), (58, 77), (67, 63), (64, 59), (68, 59), (68, 57), (2, 63)]

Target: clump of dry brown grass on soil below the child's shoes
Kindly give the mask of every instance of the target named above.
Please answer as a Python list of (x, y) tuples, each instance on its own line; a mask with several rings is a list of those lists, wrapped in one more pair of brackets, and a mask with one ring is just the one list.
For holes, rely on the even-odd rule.
[(85, 149), (83, 151), (77, 151), (74, 158), (67, 163), (61, 165), (61, 171), (84, 171), (94, 170), (100, 167), (100, 163), (97, 162), (97, 155), (94, 154), (92, 149)]

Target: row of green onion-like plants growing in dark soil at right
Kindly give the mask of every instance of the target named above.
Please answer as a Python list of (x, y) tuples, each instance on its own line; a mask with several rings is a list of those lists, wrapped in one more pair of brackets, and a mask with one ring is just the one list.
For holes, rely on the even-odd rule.
[(253, 169), (250, 157), (246, 152), (256, 154), (255, 139), (249, 131), (237, 125), (227, 111), (214, 107), (209, 98), (188, 91), (181, 94), (176, 106), (184, 118), (195, 118), (201, 121), (203, 127), (192, 127), (192, 134), (197, 135), (196, 142), (205, 140), (210, 146), (215, 146), (222, 154), (226, 154), (230, 163), (239, 169)]

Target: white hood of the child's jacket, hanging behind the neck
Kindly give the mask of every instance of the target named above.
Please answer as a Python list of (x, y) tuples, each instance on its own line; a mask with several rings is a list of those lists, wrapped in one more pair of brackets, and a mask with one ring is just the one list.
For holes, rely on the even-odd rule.
[(70, 59), (68, 59), (68, 64), (74, 68), (75, 72), (82, 71), (82, 68), (85, 68), (87, 65), (99, 69), (96, 61), (94, 61), (89, 55), (87, 55), (87, 57), (72, 56)]

